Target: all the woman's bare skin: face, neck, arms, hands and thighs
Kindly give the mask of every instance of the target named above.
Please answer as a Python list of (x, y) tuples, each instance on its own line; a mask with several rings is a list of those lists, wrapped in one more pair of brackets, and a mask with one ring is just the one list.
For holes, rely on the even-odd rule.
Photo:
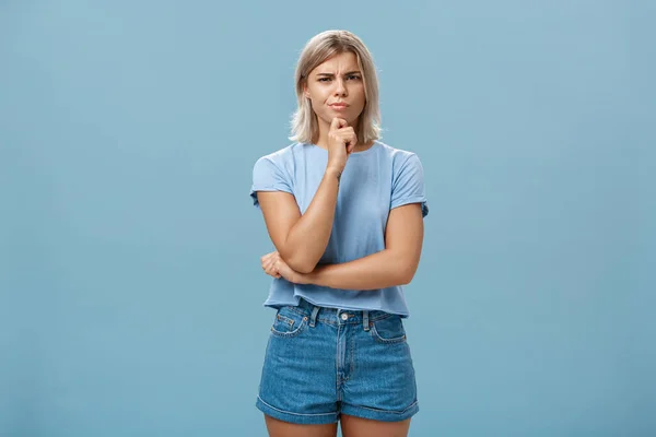
[[(366, 102), (359, 70), (355, 55), (345, 52), (326, 60), (308, 76), (304, 93), (312, 101), (319, 127), (315, 144), (328, 150), (328, 164), (305, 214), (301, 215), (294, 197), (288, 192), (258, 192), (269, 236), (278, 249), (261, 257), (260, 261), (265, 273), (273, 277), (335, 288), (376, 290), (408, 284), (417, 271), (424, 232), (419, 203), (389, 212), (384, 250), (340, 264), (316, 264), (330, 237), (341, 172), (350, 154), (373, 145), (373, 142), (359, 143), (355, 135)], [(345, 102), (348, 107), (337, 110), (330, 106), (335, 102)], [(308, 258), (312, 259), (309, 267), (300, 261)], [(295, 265), (300, 269), (294, 269)], [(266, 414), (265, 421), (271, 437), (337, 435), (337, 424), (298, 425)], [(342, 414), (340, 421), (344, 437), (405, 437), (411, 418), (378, 422)]]

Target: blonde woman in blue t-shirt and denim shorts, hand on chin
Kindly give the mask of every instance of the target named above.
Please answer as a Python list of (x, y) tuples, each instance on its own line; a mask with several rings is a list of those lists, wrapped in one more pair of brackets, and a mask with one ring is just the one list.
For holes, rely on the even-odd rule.
[(303, 49), (292, 145), (260, 157), (250, 196), (276, 251), (277, 308), (257, 408), (270, 436), (406, 436), (419, 410), (402, 285), (429, 212), (414, 153), (378, 141), (372, 56), (350, 32)]

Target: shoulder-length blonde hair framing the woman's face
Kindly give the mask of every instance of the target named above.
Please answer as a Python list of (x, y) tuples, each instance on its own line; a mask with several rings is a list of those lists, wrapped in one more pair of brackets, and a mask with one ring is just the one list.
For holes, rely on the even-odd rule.
[(358, 67), (364, 82), (365, 104), (358, 122), (358, 142), (366, 144), (380, 138), (380, 108), (378, 105), (378, 78), (374, 60), (364, 43), (348, 31), (326, 31), (312, 37), (296, 63), (295, 82), (298, 107), (292, 116), (291, 141), (314, 143), (318, 140), (319, 126), (312, 102), (304, 95), (307, 78), (316, 67), (335, 55), (351, 51), (358, 59)]

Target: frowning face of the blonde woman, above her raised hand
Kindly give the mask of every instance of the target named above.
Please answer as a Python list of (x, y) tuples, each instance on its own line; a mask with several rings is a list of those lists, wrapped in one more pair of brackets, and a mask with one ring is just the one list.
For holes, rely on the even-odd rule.
[(319, 123), (330, 125), (333, 117), (339, 117), (345, 119), (349, 126), (356, 126), (365, 97), (355, 54), (336, 55), (311, 71), (304, 93), (311, 98)]

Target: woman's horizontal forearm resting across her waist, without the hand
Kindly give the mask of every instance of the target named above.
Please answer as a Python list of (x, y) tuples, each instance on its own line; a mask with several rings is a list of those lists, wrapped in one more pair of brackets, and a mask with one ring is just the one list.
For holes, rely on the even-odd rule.
[(331, 288), (377, 290), (410, 283), (414, 270), (406, 256), (385, 249), (349, 262), (317, 265), (302, 274), (301, 281)]

